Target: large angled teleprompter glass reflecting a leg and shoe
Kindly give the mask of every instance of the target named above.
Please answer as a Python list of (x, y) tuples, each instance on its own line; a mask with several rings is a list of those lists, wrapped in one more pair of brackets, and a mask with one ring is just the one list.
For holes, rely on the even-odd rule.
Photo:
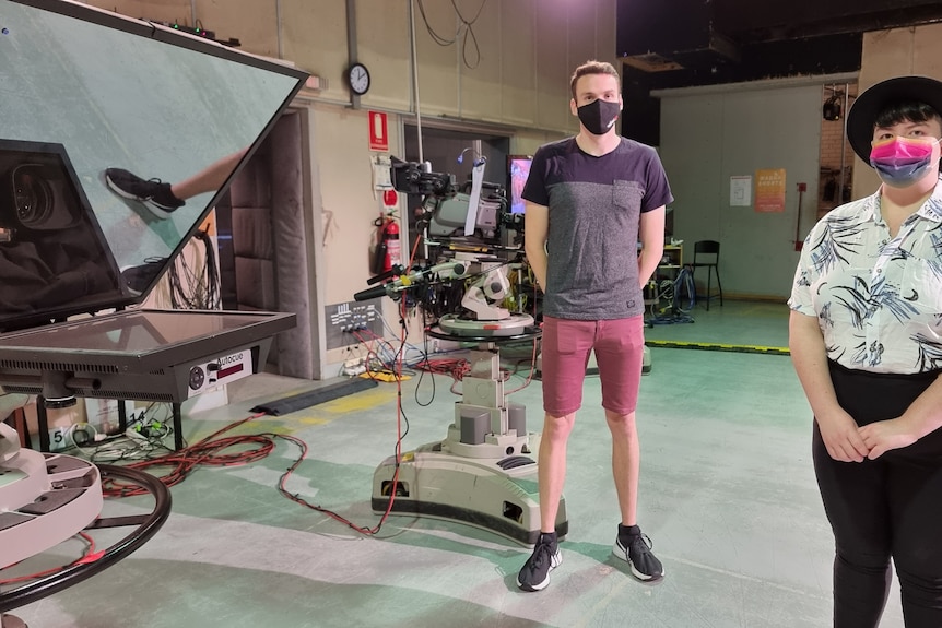
[(307, 79), (85, 4), (0, 2), (0, 331), (144, 300)]

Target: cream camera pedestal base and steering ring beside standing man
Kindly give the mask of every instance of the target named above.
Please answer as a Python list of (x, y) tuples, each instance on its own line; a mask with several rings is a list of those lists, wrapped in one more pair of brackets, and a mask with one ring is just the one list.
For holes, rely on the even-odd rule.
[[(484, 331), (483, 325), (480, 331)], [(471, 370), (462, 381), (462, 399), (455, 403), (454, 423), (446, 438), (403, 453), (398, 464), (396, 457), (390, 457), (377, 467), (373, 476), (374, 512), (389, 509), (447, 519), (523, 545), (535, 544), (540, 501), (532, 455), (539, 450), (540, 435), (527, 431), (525, 406), (506, 401), (497, 345), (535, 340), (540, 331), (528, 328), (515, 335), (472, 337), (433, 328), (428, 334), (440, 340), (476, 341), (478, 349), (469, 357)], [(568, 533), (565, 497), (560, 499), (555, 528), (560, 538)]]

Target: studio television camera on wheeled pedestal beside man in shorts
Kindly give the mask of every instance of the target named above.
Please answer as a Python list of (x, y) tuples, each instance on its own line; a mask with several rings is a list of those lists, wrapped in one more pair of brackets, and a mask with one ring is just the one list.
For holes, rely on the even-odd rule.
[[(438, 263), (395, 268), (373, 277), (369, 283), (378, 285), (354, 298), (411, 294), (419, 299), (433, 285), (461, 282), (462, 311), (439, 316), (426, 333), (473, 342), (476, 348), (469, 351), (469, 371), (447, 436), (382, 461), (373, 476), (373, 510), (454, 519), (532, 545), (541, 530), (532, 457), (540, 435), (527, 429), (526, 407), (508, 401), (499, 355), (501, 344), (540, 336), (532, 317), (504, 307), (511, 293), (509, 251), (517, 260), (522, 248), (522, 216), (509, 211), (503, 186), (458, 186), (452, 175), (399, 159), (391, 169), (398, 191), (424, 197), (420, 229), (426, 244), (443, 253)], [(474, 202), (476, 190), (480, 201)], [(514, 245), (502, 242), (507, 230), (518, 234)], [(561, 538), (568, 532), (565, 498), (560, 499), (555, 529)]]

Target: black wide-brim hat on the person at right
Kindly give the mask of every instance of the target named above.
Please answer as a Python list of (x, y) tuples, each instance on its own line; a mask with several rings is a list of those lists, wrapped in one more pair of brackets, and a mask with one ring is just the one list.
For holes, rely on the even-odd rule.
[(876, 83), (857, 96), (847, 112), (847, 139), (864, 164), (870, 163), (873, 123), (878, 114), (897, 100), (925, 103), (942, 116), (942, 82), (929, 76), (897, 76)]

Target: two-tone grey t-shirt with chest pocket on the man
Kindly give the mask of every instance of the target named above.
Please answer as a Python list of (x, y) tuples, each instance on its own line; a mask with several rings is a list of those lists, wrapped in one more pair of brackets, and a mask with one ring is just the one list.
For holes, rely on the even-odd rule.
[(622, 138), (594, 157), (575, 138), (540, 146), (523, 199), (550, 209), (543, 313), (612, 320), (644, 313), (638, 285), (640, 215), (673, 201), (650, 146)]

